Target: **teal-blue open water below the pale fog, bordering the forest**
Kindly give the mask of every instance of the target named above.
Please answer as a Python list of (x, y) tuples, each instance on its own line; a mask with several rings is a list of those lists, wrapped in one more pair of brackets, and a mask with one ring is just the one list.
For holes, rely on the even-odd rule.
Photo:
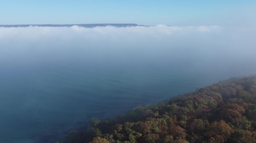
[(85, 126), (83, 121), (92, 117), (115, 117), (138, 105), (155, 104), (232, 74), (249, 74), (225, 72), (227, 69), (219, 64), (209, 69), (198, 63), (202, 65), (196, 67), (202, 68), (196, 68), (190, 58), (154, 60), (74, 62), (70, 58), (2, 65), (1, 142), (43, 142), (51, 136), (59, 139), (67, 130)]

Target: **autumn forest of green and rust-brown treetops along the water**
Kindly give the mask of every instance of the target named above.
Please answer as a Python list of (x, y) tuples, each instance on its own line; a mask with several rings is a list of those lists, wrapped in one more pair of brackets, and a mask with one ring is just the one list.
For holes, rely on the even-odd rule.
[(55, 143), (256, 143), (256, 77), (222, 81), (70, 131)]

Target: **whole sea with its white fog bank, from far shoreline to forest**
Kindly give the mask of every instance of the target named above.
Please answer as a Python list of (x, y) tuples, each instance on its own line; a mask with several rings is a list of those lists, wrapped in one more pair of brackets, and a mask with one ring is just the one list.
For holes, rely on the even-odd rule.
[(38, 141), (92, 117), (255, 74), (255, 33), (220, 26), (0, 28), (0, 142)]

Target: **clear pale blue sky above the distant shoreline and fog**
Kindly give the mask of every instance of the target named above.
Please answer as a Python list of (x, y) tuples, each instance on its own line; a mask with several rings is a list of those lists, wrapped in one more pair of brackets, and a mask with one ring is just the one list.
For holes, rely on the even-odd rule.
[(256, 0), (1, 0), (0, 24), (256, 24)]

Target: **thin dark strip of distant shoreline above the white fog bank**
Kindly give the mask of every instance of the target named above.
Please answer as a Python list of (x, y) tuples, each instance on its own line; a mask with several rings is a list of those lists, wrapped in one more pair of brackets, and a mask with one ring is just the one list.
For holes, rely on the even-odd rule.
[(135, 27), (135, 26), (145, 26), (138, 24), (15, 24), (15, 25), (0, 25), (0, 27), (29, 27), (29, 26), (38, 26), (38, 27), (71, 27), (71, 26), (81, 26), (85, 28), (93, 28), (93, 27), (106, 27), (106, 26), (114, 26), (114, 27)]

